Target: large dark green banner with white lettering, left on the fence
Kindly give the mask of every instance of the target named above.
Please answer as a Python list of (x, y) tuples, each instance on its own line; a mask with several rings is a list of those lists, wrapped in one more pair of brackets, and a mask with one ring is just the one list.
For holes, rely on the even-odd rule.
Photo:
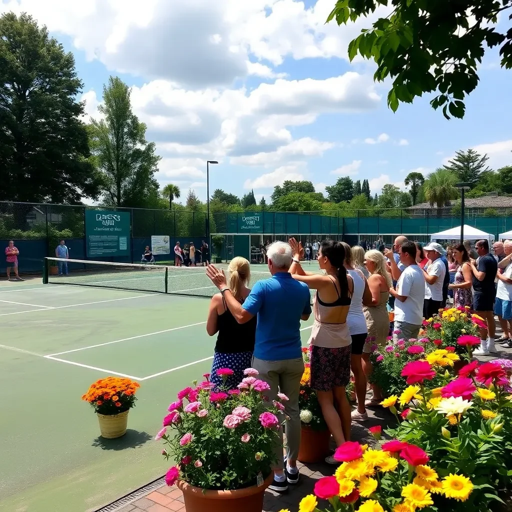
[(129, 212), (86, 210), (86, 240), (88, 258), (129, 256)]

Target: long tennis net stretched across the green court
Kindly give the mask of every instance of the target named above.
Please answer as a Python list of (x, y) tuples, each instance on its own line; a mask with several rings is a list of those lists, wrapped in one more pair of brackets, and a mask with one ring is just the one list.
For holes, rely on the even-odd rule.
[[(226, 276), (229, 277), (227, 271)], [(269, 272), (251, 272), (251, 286), (269, 277)], [(211, 297), (219, 291), (209, 280), (204, 267), (167, 267), (59, 258), (45, 258), (43, 282), (196, 297)]]

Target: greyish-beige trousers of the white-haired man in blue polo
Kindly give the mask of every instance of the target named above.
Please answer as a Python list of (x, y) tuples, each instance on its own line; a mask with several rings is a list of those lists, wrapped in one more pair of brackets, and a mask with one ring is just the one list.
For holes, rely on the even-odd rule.
[[(256, 357), (252, 358), (252, 367), (260, 372), (259, 378), (270, 386), (265, 396), (272, 401), (278, 397), (278, 392), (284, 393), (289, 400), (284, 401), (286, 419), (287, 456), (291, 460), (298, 457), (298, 449), (301, 444), (301, 417), (298, 409), (298, 395), (301, 390), (301, 378), (304, 373), (304, 361), (298, 359), (285, 359), (283, 361), (264, 361)], [(285, 418), (281, 413), (280, 422)], [(279, 429), (280, 444), (275, 446), (275, 458), (277, 463), (275, 470), (283, 468), (283, 429)]]

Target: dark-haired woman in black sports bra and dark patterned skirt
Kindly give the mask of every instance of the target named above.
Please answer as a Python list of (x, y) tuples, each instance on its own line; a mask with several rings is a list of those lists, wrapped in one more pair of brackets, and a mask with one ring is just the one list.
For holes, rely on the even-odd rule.
[[(311, 346), (311, 387), (316, 391), (324, 419), (340, 446), (350, 440), (350, 404), (345, 392), (350, 382), (351, 343), (347, 326), (354, 282), (344, 267), (345, 249), (339, 242), (326, 240), (318, 251), (319, 267), (325, 274), (306, 273), (300, 264), (301, 244), (290, 240), (294, 257), (290, 273), (315, 289), (314, 324)], [(322, 295), (322, 298), (320, 297)], [(332, 456), (326, 462), (337, 464)]]

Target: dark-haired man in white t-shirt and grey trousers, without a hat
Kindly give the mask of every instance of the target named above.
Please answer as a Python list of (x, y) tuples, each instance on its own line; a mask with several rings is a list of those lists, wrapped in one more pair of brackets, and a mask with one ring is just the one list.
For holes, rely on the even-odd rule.
[[(416, 245), (404, 242), (400, 247), (400, 263), (405, 267), (400, 275), (396, 290), (389, 292), (395, 297), (395, 341), (398, 338), (418, 337), (423, 321), (425, 278), (416, 262)], [(442, 280), (441, 280), (442, 283)]]

